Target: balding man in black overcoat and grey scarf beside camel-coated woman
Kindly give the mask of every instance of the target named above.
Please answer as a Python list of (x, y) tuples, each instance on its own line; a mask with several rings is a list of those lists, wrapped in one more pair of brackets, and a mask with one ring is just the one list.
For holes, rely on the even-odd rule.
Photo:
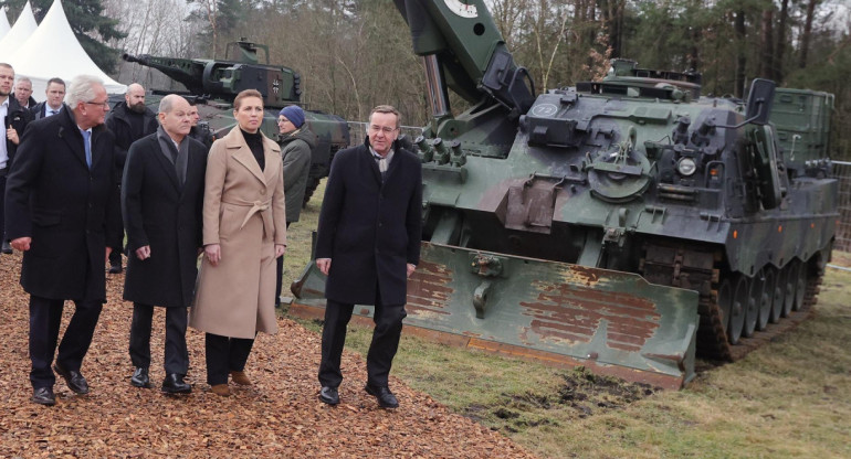
[(189, 138), (189, 103), (168, 95), (159, 104), (160, 127), (130, 146), (122, 184), (127, 231), (124, 299), (133, 301), (130, 383), (149, 387), (154, 306), (166, 308), (166, 377), (161, 389), (191, 392), (183, 382), (187, 307), (192, 301), (201, 244), (207, 148)]

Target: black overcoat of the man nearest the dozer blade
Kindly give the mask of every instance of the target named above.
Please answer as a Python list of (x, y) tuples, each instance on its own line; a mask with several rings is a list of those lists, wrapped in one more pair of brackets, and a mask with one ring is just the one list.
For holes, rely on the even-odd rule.
[(316, 238), (316, 258), (330, 258), (325, 297), (374, 305), (403, 305), (408, 263), (420, 259), (422, 166), (398, 142), (381, 181), (369, 139), (339, 151), (332, 162)]

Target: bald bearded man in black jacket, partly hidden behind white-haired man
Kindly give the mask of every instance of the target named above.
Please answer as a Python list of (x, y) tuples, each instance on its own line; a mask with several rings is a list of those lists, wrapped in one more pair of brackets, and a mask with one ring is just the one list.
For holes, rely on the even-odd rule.
[[(130, 145), (157, 131), (157, 115), (145, 105), (145, 88), (138, 83), (127, 86), (124, 102), (116, 104), (106, 119), (106, 127), (115, 135), (115, 168), (118, 182), (122, 181), (124, 163)], [(122, 271), (122, 246), (113, 247), (109, 255), (109, 274)]]

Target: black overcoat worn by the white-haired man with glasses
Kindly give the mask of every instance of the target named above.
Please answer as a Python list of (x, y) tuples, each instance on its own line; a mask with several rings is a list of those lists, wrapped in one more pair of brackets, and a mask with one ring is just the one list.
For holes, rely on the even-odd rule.
[(113, 135), (92, 129), (92, 169), (69, 110), (30, 122), (6, 188), (9, 239), (32, 237), (21, 285), (50, 299), (106, 301), (105, 248), (122, 239)]

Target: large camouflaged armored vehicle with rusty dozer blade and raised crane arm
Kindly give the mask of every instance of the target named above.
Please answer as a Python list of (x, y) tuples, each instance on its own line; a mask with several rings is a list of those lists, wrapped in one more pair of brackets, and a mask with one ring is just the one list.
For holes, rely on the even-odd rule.
[[(433, 111), (407, 332), (680, 387), (695, 355), (802, 320), (838, 216), (831, 96), (704, 97), (700, 74), (626, 60), (536, 96), (481, 0), (396, 4)], [(292, 310), (321, 313), (323, 288), (308, 266)]]

